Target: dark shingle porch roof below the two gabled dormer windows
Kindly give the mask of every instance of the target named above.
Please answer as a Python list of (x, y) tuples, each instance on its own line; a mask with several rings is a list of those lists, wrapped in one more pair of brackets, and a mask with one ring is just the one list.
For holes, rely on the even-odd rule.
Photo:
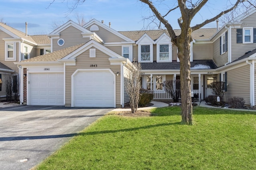
[[(140, 63), (142, 70), (178, 70), (180, 69), (180, 63), (172, 61), (172, 63)], [(196, 69), (215, 69), (217, 68), (216, 64), (212, 60), (194, 60), (190, 62), (191, 69), (196, 68), (197, 65), (202, 65), (205, 68), (196, 68)]]

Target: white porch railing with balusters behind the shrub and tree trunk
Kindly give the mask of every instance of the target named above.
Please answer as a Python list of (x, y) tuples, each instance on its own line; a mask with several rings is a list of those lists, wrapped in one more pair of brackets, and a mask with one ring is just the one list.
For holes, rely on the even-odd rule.
[[(170, 100), (172, 99), (171, 95), (167, 93), (165, 90), (151, 90), (154, 94), (154, 99), (166, 99)], [(180, 91), (180, 90), (177, 90)], [(191, 90), (191, 94), (193, 94), (193, 98), (198, 99), (199, 98), (199, 90)], [(180, 98), (180, 97), (179, 97)]]

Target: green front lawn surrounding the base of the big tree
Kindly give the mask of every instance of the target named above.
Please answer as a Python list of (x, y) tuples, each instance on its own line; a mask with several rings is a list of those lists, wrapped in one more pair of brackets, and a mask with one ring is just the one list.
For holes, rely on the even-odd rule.
[(37, 169), (256, 169), (256, 112), (194, 107), (194, 125), (180, 125), (180, 107), (151, 117), (108, 114)]

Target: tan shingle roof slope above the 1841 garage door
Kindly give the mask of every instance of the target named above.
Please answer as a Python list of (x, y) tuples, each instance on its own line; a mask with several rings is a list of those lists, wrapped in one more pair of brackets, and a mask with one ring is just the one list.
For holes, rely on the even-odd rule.
[(59, 59), (62, 59), (63, 57), (72, 53), (73, 51), (75, 51), (76, 49), (78, 49), (79, 47), (81, 47), (84, 44), (85, 43), (82, 43), (82, 44), (79, 44), (79, 45), (75, 45), (75, 46), (72, 46), (72, 47), (68, 47), (68, 48), (65, 48), (65, 49), (54, 51), (53, 53), (49, 53), (49, 54), (46, 54), (46, 55), (40, 55), (38, 57), (34, 57), (34, 58), (24, 60), (24, 61), (21, 61), (21, 62), (24, 63), (24, 62), (58, 61)]

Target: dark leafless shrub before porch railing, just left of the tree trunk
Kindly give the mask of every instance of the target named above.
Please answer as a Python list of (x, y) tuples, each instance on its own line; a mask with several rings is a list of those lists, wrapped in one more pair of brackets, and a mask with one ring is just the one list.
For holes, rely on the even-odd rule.
[(166, 80), (163, 86), (164, 90), (171, 95), (173, 102), (178, 102), (180, 98), (180, 80)]

